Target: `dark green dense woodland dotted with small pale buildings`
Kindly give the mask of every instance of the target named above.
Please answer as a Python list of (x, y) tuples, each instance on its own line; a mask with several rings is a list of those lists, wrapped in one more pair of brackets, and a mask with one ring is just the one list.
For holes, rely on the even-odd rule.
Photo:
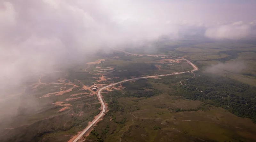
[(186, 85), (174, 86), (177, 95), (225, 108), (236, 116), (250, 118), (256, 123), (256, 87), (206, 74), (187, 79), (182, 81)]

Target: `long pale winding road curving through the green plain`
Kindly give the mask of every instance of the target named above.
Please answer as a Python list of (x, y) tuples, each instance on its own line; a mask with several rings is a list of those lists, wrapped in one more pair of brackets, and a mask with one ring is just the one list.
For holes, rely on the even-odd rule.
[[(115, 50), (117, 50), (117, 49), (115, 49)], [(122, 51), (122, 50), (119, 50), (119, 51)], [(125, 51), (122, 51), (122, 52), (124, 52), (124, 53), (126, 53), (126, 54), (131, 54), (131, 55), (140, 55), (140, 54), (132, 54), (132, 53), (125, 52)], [(168, 55), (144, 55), (144, 56), (168, 56)], [(190, 65), (194, 68), (192, 71), (197, 71), (197, 70), (198, 70), (198, 68), (196, 67), (196, 65), (193, 64), (193, 63), (191, 63), (191, 62), (188, 61), (187, 59), (184, 59), (184, 58), (182, 58), (182, 57), (177, 57), (177, 56), (170, 56), (170, 57), (176, 57), (176, 58), (183, 59), (183, 60), (187, 61), (188, 64), (190, 64)], [(192, 71), (191, 71), (191, 72), (192, 72)], [(87, 131), (92, 127), (92, 125), (93, 125), (94, 123), (96, 123), (96, 122), (103, 116), (103, 114), (105, 113), (105, 111), (106, 111), (106, 106), (105, 106), (104, 101), (102, 100), (102, 98), (101, 98), (101, 96), (100, 96), (100, 92), (101, 92), (103, 89), (106, 89), (106, 88), (108, 88), (108, 87), (114, 86), (114, 85), (119, 84), (119, 83), (123, 83), (123, 82), (126, 82), (126, 81), (130, 81), (130, 80), (136, 80), (136, 79), (141, 79), (141, 78), (162, 77), (162, 76), (176, 75), (176, 74), (182, 74), (182, 73), (187, 73), (187, 72), (190, 72), (190, 71), (184, 71), (184, 72), (178, 72), (178, 73), (172, 73), (172, 74), (164, 74), (164, 75), (153, 75), (153, 76), (132, 78), (132, 79), (127, 79), (127, 80), (119, 81), (119, 82), (116, 82), (116, 83), (113, 83), (113, 84), (110, 84), (110, 85), (108, 85), (108, 86), (104, 86), (104, 87), (100, 88), (100, 89), (98, 90), (98, 92), (97, 92), (97, 96), (98, 96), (98, 98), (100, 99), (100, 103), (101, 103), (101, 106), (102, 106), (103, 109), (102, 109), (100, 115), (99, 115), (96, 119), (94, 119), (94, 120), (92, 121), (92, 124), (88, 125), (87, 128), (86, 128), (73, 142), (77, 142), (78, 139), (80, 139), (80, 138), (84, 135), (84, 133), (87, 132)]]

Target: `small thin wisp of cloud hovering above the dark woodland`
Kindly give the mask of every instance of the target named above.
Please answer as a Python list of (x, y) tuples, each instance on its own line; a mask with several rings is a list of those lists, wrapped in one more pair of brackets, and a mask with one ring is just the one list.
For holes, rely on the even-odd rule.
[(239, 73), (246, 68), (246, 65), (243, 61), (237, 62), (228, 62), (228, 63), (219, 63), (208, 66), (205, 68), (205, 72), (212, 74), (222, 74), (223, 71)]

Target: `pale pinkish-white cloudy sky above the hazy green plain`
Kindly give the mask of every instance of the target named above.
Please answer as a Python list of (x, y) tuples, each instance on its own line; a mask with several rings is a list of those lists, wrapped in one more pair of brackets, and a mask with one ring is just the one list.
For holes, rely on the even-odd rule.
[[(0, 0), (0, 82), (98, 49), (204, 29), (212, 40), (256, 37), (255, 0)], [(193, 31), (193, 30), (192, 30)]]

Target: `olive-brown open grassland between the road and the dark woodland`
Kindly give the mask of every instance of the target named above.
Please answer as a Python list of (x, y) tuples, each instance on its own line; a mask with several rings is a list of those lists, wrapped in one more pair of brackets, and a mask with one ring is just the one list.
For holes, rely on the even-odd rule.
[[(104, 94), (110, 110), (86, 137), (86, 141), (256, 140), (256, 124), (250, 119), (237, 117), (223, 108), (202, 101), (187, 100), (180, 95), (174, 95), (172, 91), (175, 90), (172, 86), (177, 86), (176, 83), (168, 87), (162, 83), (155, 83), (153, 79), (136, 82), (132, 83), (135, 83), (137, 89), (130, 85), (121, 92)], [(158, 86), (162, 87), (158, 90)], [(140, 90), (146, 92), (148, 89), (157, 93), (153, 96), (140, 93)]]

